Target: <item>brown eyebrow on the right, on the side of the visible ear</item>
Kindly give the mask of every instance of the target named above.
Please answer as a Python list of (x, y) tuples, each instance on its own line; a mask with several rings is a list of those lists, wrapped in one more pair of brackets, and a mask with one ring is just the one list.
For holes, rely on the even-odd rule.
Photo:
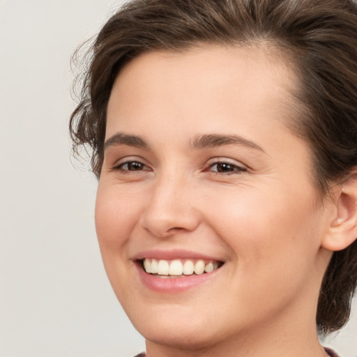
[(245, 139), (244, 137), (240, 137), (238, 135), (197, 135), (197, 137), (195, 137), (190, 143), (190, 146), (192, 147), (192, 149), (204, 149), (231, 144), (246, 146), (250, 149), (256, 149), (265, 153), (264, 149), (257, 143)]

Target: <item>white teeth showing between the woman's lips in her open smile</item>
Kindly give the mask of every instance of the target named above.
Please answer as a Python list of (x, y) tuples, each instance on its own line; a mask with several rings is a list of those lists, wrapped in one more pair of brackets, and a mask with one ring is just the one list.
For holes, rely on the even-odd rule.
[(222, 261), (205, 261), (203, 259), (153, 259), (141, 260), (146, 273), (158, 278), (185, 278), (192, 275), (211, 273), (223, 265)]

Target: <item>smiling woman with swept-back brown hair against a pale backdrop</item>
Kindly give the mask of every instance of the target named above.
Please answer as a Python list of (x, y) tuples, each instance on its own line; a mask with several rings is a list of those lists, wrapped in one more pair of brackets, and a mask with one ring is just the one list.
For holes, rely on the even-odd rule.
[(70, 130), (146, 355), (335, 356), (357, 283), (357, 8), (132, 1)]

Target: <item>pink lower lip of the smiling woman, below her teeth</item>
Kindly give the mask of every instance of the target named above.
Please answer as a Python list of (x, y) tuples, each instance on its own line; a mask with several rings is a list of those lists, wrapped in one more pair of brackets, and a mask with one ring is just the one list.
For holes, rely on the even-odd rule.
[(194, 287), (198, 287), (201, 284), (208, 282), (211, 278), (215, 277), (217, 272), (220, 270), (218, 268), (211, 273), (204, 273), (201, 275), (188, 275), (183, 278), (159, 278), (158, 276), (146, 273), (142, 268), (141, 263), (135, 264), (139, 272), (139, 278), (142, 283), (153, 291), (158, 291), (160, 293), (174, 294)]

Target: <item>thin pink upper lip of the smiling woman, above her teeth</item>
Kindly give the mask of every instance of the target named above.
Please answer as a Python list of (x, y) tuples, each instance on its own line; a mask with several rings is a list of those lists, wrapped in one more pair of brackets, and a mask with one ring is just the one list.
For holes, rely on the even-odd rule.
[(200, 252), (192, 252), (190, 250), (144, 250), (137, 253), (133, 260), (142, 260), (145, 258), (153, 259), (164, 259), (164, 260), (174, 260), (174, 259), (202, 259), (211, 261), (222, 261), (218, 257), (213, 257), (210, 255), (204, 255)]

